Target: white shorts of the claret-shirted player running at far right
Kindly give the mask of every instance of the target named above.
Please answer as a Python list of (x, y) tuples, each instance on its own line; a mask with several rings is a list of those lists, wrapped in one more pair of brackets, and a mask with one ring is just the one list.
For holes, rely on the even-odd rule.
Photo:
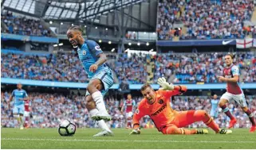
[(245, 98), (245, 94), (230, 94), (228, 92), (224, 93), (223, 96), (220, 99), (226, 99), (228, 100), (228, 102), (230, 101), (235, 101), (238, 103), (239, 106), (241, 107), (246, 107), (246, 98)]

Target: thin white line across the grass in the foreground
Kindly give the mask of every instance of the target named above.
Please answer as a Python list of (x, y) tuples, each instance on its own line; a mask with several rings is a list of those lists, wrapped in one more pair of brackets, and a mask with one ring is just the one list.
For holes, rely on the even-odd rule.
[(48, 140), (48, 141), (95, 141), (95, 142), (142, 142), (142, 143), (255, 143), (256, 141), (240, 141), (240, 140), (85, 140), (85, 139), (23, 139), (23, 138), (2, 138), (1, 140)]

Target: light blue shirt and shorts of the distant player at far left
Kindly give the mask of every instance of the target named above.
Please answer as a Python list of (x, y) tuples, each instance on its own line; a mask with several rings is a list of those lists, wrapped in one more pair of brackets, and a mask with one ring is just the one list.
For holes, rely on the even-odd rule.
[(19, 98), (26, 98), (28, 94), (26, 94), (26, 90), (13, 90), (12, 97), (14, 98), (14, 109), (13, 113), (24, 113), (24, 101), (19, 100)]

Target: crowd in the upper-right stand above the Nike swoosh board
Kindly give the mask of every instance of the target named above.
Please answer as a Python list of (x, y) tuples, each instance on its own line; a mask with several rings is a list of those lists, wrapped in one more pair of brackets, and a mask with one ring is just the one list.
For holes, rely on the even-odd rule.
[[(254, 12), (253, 0), (160, 0), (158, 10), (160, 40), (243, 38), (256, 33), (254, 26), (243, 23)], [(175, 24), (186, 30), (182, 32)]]

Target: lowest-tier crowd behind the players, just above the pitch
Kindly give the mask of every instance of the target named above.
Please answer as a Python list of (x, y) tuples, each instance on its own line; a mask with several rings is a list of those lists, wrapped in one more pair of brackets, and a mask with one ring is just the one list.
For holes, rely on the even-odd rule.
[[(12, 105), (7, 105), (9, 101), (10, 93), (1, 93), (1, 125), (2, 127), (17, 127), (18, 122), (14, 119), (12, 113)], [(61, 119), (72, 119), (75, 121), (79, 128), (95, 128), (97, 125), (89, 118), (89, 112), (85, 108), (84, 96), (71, 94), (68, 96), (62, 94), (45, 94), (45, 93), (30, 93), (31, 100), (31, 119), (30, 127), (32, 128), (55, 128), (59, 125)], [(136, 103), (140, 102), (140, 97), (134, 98)], [(256, 97), (246, 97), (246, 101), (249, 103), (250, 109), (256, 116)], [(108, 122), (111, 128), (123, 128), (125, 127), (124, 113), (120, 112), (120, 108), (123, 105), (124, 98), (117, 99), (114, 96), (107, 96), (105, 98), (105, 104), (107, 110), (112, 116), (112, 121)], [(207, 96), (176, 96), (171, 101), (171, 107), (177, 111), (183, 110), (207, 110), (210, 113), (211, 102), (210, 97)], [(242, 113), (242, 110), (238, 108), (235, 103), (230, 103), (230, 112), (238, 119), (238, 124), (235, 128), (249, 128), (250, 121), (246, 116), (246, 113)], [(219, 117), (215, 121), (221, 126), (226, 127), (228, 121), (226, 121), (225, 113), (219, 109)], [(140, 125), (144, 128), (148, 128), (152, 125), (149, 117), (144, 117)], [(204, 127), (203, 122), (195, 123), (191, 127)]]

